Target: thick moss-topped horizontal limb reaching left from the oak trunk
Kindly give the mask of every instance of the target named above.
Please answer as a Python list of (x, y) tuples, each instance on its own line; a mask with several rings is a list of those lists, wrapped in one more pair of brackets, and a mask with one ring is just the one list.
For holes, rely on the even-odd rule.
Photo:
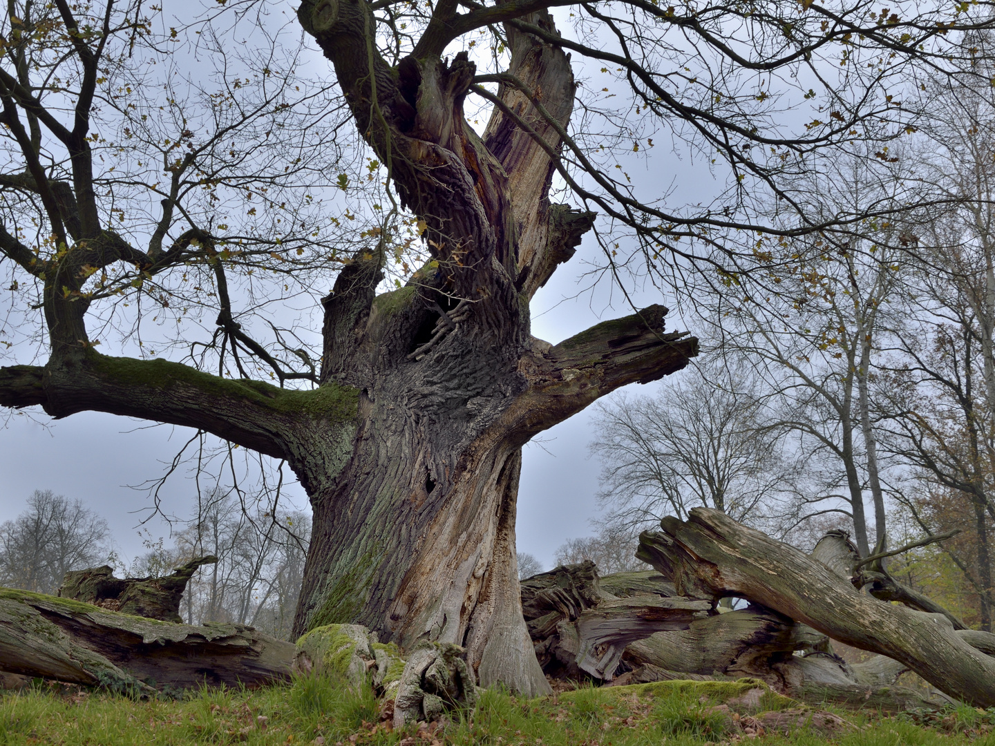
[(299, 462), (296, 447), (308, 433), (351, 423), (358, 398), (332, 382), (311, 391), (280, 389), (166, 360), (108, 357), (90, 349), (60, 365), (0, 368), (0, 406), (34, 405), (56, 418), (107, 412), (196, 428)]

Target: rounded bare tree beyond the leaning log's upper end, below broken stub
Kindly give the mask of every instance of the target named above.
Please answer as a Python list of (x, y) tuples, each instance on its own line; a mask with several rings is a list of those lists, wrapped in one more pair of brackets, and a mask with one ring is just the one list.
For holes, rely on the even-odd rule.
[(713, 359), (653, 398), (617, 397), (596, 411), (598, 496), (611, 507), (606, 520), (634, 537), (697, 505), (760, 525), (793, 481), (745, 365)]

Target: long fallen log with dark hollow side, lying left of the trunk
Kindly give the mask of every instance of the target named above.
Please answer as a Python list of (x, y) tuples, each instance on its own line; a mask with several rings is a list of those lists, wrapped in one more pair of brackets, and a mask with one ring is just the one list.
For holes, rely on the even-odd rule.
[(0, 588), (0, 669), (138, 690), (257, 686), (291, 674), (295, 648), (243, 625), (193, 627)]

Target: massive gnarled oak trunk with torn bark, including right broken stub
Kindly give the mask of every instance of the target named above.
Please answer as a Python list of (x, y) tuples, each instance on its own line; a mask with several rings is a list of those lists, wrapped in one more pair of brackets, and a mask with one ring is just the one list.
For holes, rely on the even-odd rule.
[[(295, 465), (314, 506), (296, 629), (355, 622), (402, 647), (455, 643), (483, 685), (541, 693), (515, 562), (521, 447), (618, 386), (684, 367), (695, 342), (665, 334), (659, 306), (556, 346), (529, 335), (529, 298), (593, 220), (547, 199), (573, 106), (567, 57), (508, 27), (508, 77), (481, 140), (463, 115), (467, 56), (416, 50), (390, 69), (369, 52), (369, 13), (320, 0), (298, 17), (435, 261), (374, 297), (382, 253), (357, 256), (326, 299), (322, 382), (359, 400), (341, 470)], [(528, 20), (552, 28), (544, 12)]]

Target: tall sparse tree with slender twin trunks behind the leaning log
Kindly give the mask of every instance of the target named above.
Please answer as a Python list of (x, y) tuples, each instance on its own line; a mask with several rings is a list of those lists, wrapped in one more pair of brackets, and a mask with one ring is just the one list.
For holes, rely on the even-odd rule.
[[(854, 176), (857, 164), (848, 165)], [(891, 200), (858, 179), (846, 182), (845, 204), (861, 201), (865, 189), (875, 199)], [(813, 212), (831, 209), (833, 194), (827, 187), (826, 206), (813, 205)], [(855, 229), (845, 241), (823, 236), (805, 248), (762, 242), (764, 251), (783, 262), (769, 274), (777, 291), (713, 295), (710, 319), (725, 353), (752, 366), (760, 379), (768, 411), (776, 412), (767, 427), (792, 434), (807, 462), (806, 483), (784, 516), (785, 530), (811, 516), (841, 512), (868, 556), (888, 538), (870, 382), (905, 254), (897, 245), (909, 239), (887, 221), (868, 219), (860, 227), (863, 236)]]

